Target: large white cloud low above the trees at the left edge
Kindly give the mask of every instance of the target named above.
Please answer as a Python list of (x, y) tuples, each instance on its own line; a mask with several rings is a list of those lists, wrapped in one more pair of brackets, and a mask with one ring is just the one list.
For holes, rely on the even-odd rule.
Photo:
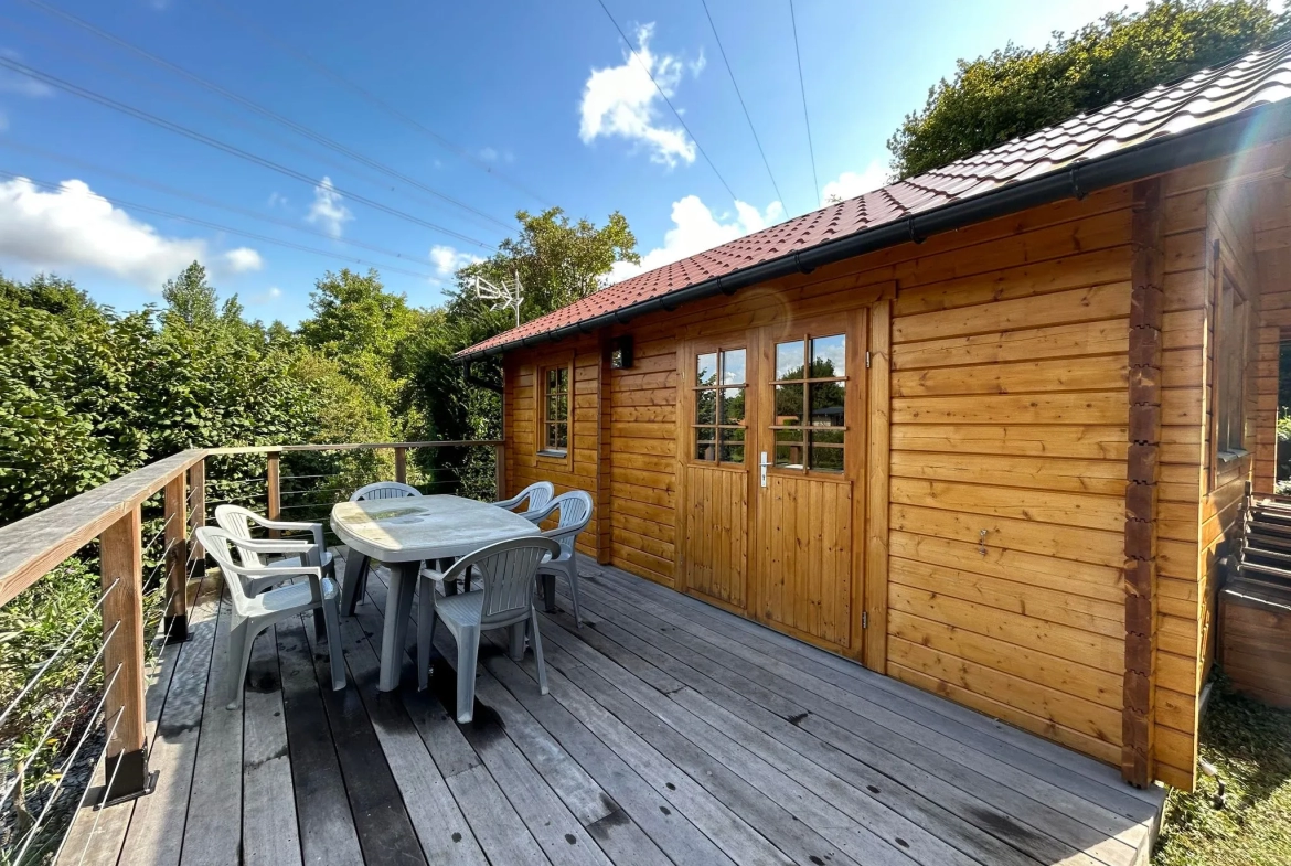
[(0, 256), (49, 270), (93, 268), (160, 290), (205, 254), (205, 241), (165, 237), (84, 181), (63, 181), (57, 191), (27, 178), (0, 183)]

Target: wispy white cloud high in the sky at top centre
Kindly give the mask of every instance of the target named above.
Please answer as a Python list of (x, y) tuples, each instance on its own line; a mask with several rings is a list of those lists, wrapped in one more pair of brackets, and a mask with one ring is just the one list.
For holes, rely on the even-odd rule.
[[(655, 81), (658, 81), (658, 86), (671, 98), (682, 81), (684, 67), (683, 62), (671, 54), (656, 55), (649, 50), (653, 32), (652, 23), (638, 27), (636, 41), (640, 49), (635, 57), (629, 46), (622, 66), (591, 71), (582, 92), (578, 137), (585, 145), (599, 137), (626, 138), (646, 146), (651, 161), (671, 168), (678, 160), (695, 161), (695, 142), (683, 129), (665, 126), (656, 116), (664, 99), (651, 81), (649, 72), (653, 72)], [(700, 59), (689, 66), (692, 72), (698, 75), (704, 65), (701, 54)]]

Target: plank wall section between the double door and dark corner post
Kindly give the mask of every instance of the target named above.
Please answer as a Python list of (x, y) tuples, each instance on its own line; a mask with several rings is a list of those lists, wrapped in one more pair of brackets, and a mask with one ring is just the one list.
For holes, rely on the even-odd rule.
[(1118, 763), (1130, 191), (1069, 208), (900, 283), (888, 672)]

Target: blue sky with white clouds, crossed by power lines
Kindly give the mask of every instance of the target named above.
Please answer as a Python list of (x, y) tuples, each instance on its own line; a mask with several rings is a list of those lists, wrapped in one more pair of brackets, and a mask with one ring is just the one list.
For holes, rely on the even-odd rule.
[(367, 267), (354, 259), (377, 265), (411, 302), (438, 303), (454, 265), (487, 256), (518, 209), (544, 205), (596, 222), (621, 210), (657, 266), (815, 209), (829, 192), (880, 186), (888, 136), (957, 58), (1038, 45), (1124, 4), (798, 0), (813, 181), (788, 0), (709, 0), (782, 201), (700, 0), (605, 5), (636, 59), (596, 0), (10, 0), (0, 62), (287, 173), (0, 66), (0, 270), (54, 271), (132, 310), (200, 258), (249, 316), (293, 324), (325, 270)]

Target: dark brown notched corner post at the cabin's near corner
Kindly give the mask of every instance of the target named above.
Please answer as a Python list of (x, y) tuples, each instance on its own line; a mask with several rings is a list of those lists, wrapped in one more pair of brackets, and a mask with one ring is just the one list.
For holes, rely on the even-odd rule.
[(1164, 320), (1164, 226), (1159, 178), (1133, 186), (1130, 294), (1130, 443), (1126, 484), (1124, 709), (1121, 773), (1136, 787), (1154, 778), (1157, 661), (1157, 497)]

